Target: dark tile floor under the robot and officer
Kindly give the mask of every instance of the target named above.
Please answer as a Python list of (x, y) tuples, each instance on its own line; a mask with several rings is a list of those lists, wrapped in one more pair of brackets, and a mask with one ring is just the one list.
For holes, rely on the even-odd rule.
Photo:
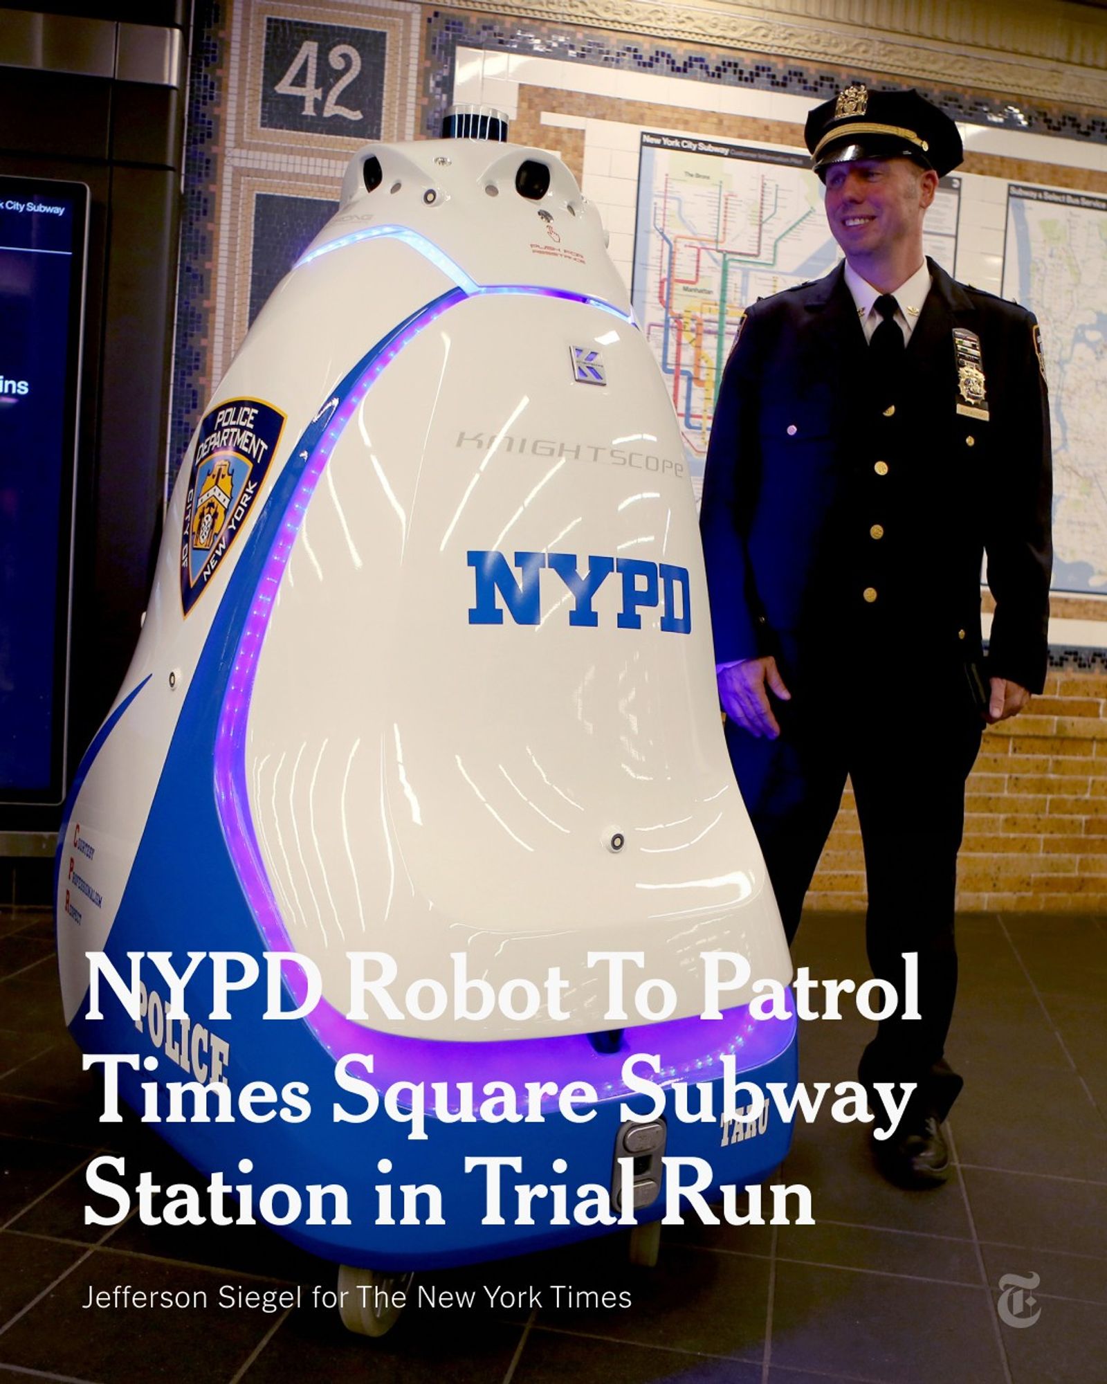
[[(966, 1091), (948, 1186), (899, 1192), (857, 1125), (800, 1124), (783, 1174), (811, 1187), (815, 1226), (666, 1229), (655, 1271), (628, 1266), (613, 1236), (429, 1275), (479, 1294), (537, 1287), (542, 1305), (410, 1308), (368, 1341), (309, 1305), (214, 1305), (223, 1284), (303, 1284), (306, 1300), (331, 1286), (325, 1265), (268, 1230), (82, 1223), (95, 1149), (188, 1172), (137, 1121), (105, 1135), (62, 1028), (50, 919), (0, 912), (0, 1381), (1107, 1381), (1107, 919), (974, 915), (959, 931), (951, 1052)], [(857, 918), (809, 916), (797, 952), (816, 976), (863, 974)], [(851, 1078), (865, 1027), (804, 1026), (804, 1077)], [(1030, 1326), (998, 1313), (1006, 1275), (1039, 1277)], [(206, 1290), (212, 1306), (83, 1306), (126, 1283)], [(558, 1283), (627, 1289), (632, 1305), (556, 1306)]]

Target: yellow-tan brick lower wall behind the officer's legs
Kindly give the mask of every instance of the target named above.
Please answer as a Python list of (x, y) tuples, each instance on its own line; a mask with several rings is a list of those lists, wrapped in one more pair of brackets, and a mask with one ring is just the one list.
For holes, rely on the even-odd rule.
[[(1061, 668), (1050, 671), (1030, 710), (984, 732), (964, 800), (960, 909), (1107, 909), (1104, 711), (1107, 673)], [(865, 907), (848, 785), (808, 907)]]

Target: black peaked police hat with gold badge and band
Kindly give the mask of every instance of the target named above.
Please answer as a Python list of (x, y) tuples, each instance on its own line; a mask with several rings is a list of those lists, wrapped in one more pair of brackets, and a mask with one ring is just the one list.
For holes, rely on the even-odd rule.
[(964, 158), (956, 125), (915, 90), (848, 86), (808, 115), (804, 140), (823, 181), (830, 163), (852, 159), (913, 159), (942, 177)]

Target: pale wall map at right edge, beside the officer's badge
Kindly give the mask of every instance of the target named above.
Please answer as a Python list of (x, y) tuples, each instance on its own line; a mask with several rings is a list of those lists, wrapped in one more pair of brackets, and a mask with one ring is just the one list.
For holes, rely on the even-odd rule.
[(1107, 591), (1107, 198), (1012, 183), (1003, 295), (1038, 317), (1053, 432), (1053, 590)]

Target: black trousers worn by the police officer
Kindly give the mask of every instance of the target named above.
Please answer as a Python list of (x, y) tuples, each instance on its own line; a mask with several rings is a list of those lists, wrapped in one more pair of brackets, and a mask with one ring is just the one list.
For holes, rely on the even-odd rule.
[[(937, 677), (924, 664), (898, 677), (851, 667), (848, 685), (830, 678), (792, 686), (793, 700), (774, 704), (776, 740), (726, 722), (789, 943), (850, 775), (865, 850), (869, 965), (899, 996), (865, 1049), (859, 1077), (917, 1082), (911, 1110), (940, 1118), (963, 1085), (945, 1062), (945, 1038), (958, 990), (953, 898), (964, 781), (982, 731), (966, 686), (959, 664)], [(919, 1020), (902, 1017), (904, 952), (919, 955)]]

